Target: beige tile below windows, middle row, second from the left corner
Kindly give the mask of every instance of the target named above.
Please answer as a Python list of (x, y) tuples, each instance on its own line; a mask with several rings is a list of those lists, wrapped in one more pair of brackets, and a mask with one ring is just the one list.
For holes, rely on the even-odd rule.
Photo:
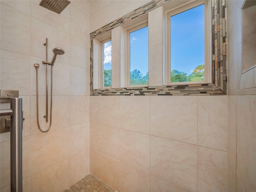
[(120, 130), (106, 125), (98, 126), (98, 151), (120, 160)]

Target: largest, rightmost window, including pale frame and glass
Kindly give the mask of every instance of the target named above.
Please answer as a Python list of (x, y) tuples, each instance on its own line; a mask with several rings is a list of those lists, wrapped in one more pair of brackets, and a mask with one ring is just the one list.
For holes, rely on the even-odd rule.
[(210, 82), (210, 29), (206, 3), (168, 13), (168, 84)]

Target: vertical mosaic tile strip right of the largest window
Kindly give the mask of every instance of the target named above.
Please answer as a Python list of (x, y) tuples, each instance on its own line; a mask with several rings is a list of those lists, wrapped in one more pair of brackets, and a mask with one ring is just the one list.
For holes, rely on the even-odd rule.
[(212, 0), (212, 79), (227, 92), (227, 19), (226, 0)]

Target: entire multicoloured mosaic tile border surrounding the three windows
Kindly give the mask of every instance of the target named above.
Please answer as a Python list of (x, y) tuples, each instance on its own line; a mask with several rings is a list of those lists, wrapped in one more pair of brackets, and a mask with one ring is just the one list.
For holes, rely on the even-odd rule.
[(90, 95), (225, 95), (226, 77), (226, 0), (212, 0), (212, 80), (210, 84), (93, 89), (93, 38), (142, 16), (172, 0), (152, 0), (90, 34)]

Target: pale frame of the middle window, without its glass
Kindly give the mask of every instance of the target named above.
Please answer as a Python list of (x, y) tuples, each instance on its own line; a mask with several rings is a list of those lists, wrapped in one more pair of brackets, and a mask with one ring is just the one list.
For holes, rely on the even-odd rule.
[(136, 30), (139, 30), (141, 28), (144, 28), (148, 26), (148, 20), (140, 22), (134, 26), (131, 26), (129, 28), (126, 28), (126, 51), (125, 51), (125, 60), (126, 60), (126, 64), (125, 64), (125, 76), (126, 76), (126, 87), (144, 87), (144, 86), (148, 86), (148, 84), (141, 84), (141, 85), (130, 85), (130, 33), (134, 32)]

